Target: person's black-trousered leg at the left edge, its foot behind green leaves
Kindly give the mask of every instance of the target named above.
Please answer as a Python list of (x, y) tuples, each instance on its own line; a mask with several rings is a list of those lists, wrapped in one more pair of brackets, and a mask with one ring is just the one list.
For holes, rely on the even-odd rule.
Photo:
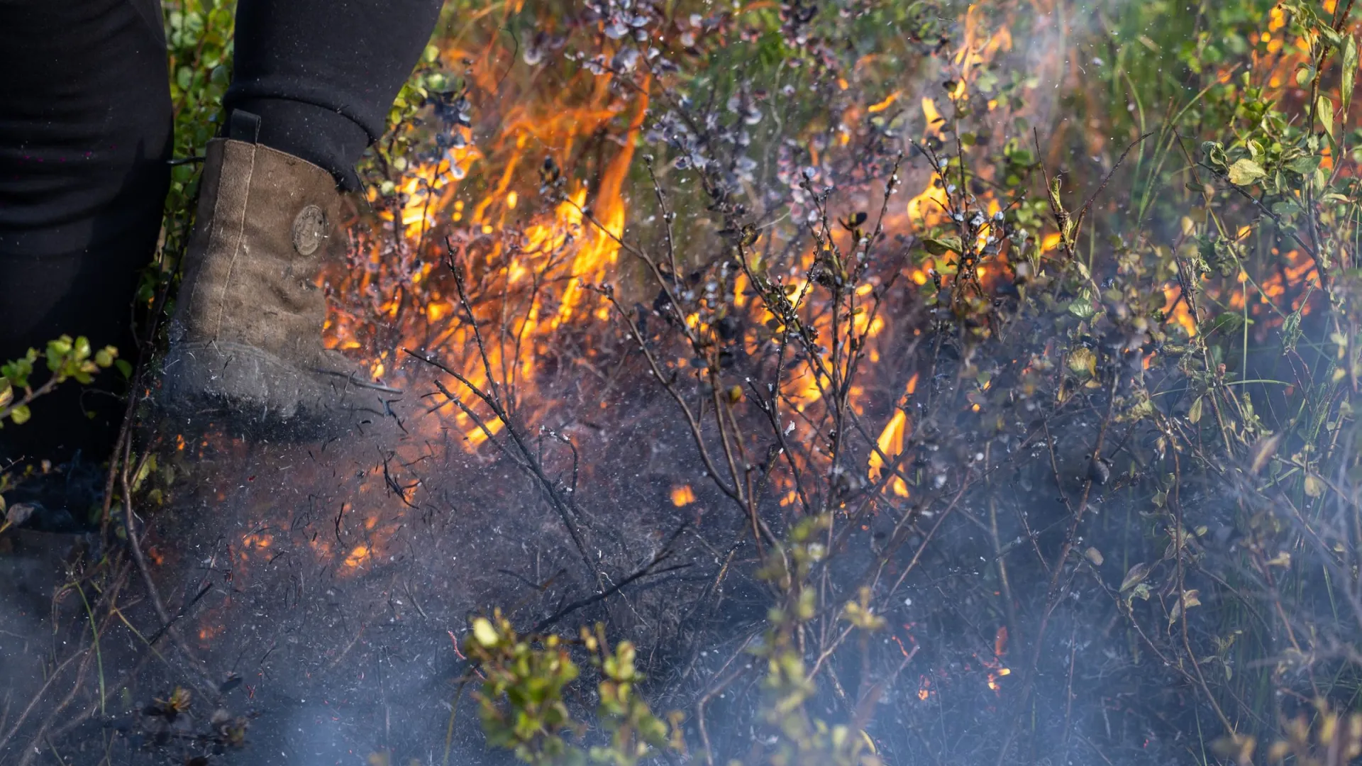
[[(172, 146), (159, 4), (3, 1), (0, 72), (0, 361), (60, 334), (135, 357), (129, 307)], [(69, 382), (5, 424), (0, 466), (105, 459), (124, 409), (114, 379)]]

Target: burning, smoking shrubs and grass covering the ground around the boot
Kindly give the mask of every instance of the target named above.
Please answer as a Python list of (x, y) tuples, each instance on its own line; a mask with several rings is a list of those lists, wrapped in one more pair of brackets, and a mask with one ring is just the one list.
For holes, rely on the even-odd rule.
[(1350, 14), (451, 5), (327, 282), (394, 423), (132, 453), (0, 748), (1348, 763)]

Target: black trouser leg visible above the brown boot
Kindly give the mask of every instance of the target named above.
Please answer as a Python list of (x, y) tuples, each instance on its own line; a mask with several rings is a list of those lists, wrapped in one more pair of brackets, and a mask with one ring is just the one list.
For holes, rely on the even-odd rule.
[(260, 143), (355, 187), (441, 0), (240, 0), (225, 106), (260, 116)]

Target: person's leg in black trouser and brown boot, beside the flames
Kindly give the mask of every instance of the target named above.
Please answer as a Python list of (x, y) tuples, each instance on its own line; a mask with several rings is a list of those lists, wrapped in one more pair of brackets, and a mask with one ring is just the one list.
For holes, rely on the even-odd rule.
[(323, 350), (316, 279), (346, 243), (336, 187), (358, 185), (354, 164), (385, 131), (440, 5), (237, 5), (226, 132), (206, 153), (163, 367), (163, 401), (180, 425), (309, 438), (385, 409), (362, 371)]

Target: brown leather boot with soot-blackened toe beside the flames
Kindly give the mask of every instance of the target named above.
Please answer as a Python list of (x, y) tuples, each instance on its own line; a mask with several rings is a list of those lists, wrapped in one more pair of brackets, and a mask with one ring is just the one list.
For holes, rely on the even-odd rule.
[[(257, 128), (234, 112), (229, 136)], [(316, 281), (323, 260), (343, 252), (339, 219), (327, 170), (253, 140), (208, 142), (163, 365), (173, 414), (274, 438), (335, 433), (381, 416), (380, 391), (399, 391), (321, 348), (326, 298)]]

